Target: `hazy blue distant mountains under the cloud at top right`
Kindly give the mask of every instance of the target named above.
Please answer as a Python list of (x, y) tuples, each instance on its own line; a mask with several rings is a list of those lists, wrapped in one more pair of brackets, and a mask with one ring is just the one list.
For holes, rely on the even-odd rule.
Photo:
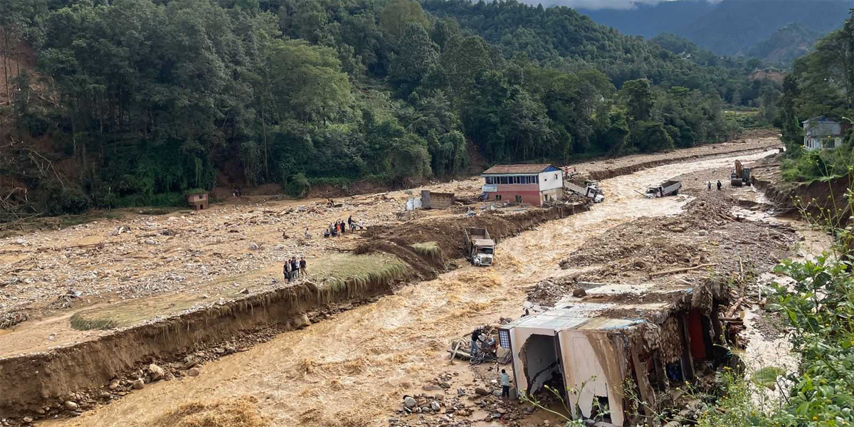
[[(586, 10), (597, 23), (652, 38), (673, 33), (717, 55), (752, 55), (787, 62), (805, 53), (816, 33), (845, 22), (852, 0), (679, 0), (639, 3), (629, 10)], [(787, 27), (790, 24), (797, 26)], [(762, 44), (759, 46), (759, 44)]]

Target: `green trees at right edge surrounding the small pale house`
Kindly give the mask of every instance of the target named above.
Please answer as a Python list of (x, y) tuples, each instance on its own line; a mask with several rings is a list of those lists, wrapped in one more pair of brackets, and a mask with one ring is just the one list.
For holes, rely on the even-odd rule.
[(854, 9), (842, 28), (795, 61), (793, 72), (783, 80), (779, 109), (777, 125), (791, 159), (784, 168), (785, 178), (800, 181), (850, 173), (854, 135), (845, 136), (842, 148), (804, 152), (801, 122), (818, 116), (848, 122), (854, 118)]

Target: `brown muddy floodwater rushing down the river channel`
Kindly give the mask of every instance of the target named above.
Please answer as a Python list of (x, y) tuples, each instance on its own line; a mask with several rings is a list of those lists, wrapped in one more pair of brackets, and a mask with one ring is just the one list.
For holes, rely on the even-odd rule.
[[(559, 275), (558, 261), (589, 238), (642, 216), (678, 213), (689, 196), (646, 199), (647, 185), (776, 150), (654, 167), (602, 181), (605, 202), (499, 243), (492, 268), (465, 266), (436, 280), (336, 315), (303, 330), (202, 367), (199, 377), (152, 383), (112, 404), (42, 425), (143, 426), (190, 402), (254, 396), (271, 425), (387, 425), (401, 395), (418, 393), (436, 375), (456, 374), (454, 389), (471, 383), (465, 362), (446, 348), (475, 325), (517, 318), (525, 288)], [(728, 182), (728, 177), (721, 177)], [(2, 333), (2, 331), (0, 331)]]

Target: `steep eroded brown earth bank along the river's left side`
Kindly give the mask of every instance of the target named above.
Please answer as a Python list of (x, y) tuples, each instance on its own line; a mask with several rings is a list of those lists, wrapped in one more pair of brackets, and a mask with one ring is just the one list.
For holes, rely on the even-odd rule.
[[(301, 328), (309, 323), (306, 313), (335, 311), (341, 306), (389, 294), (395, 283), (402, 280), (435, 278), (447, 269), (447, 255), (455, 258), (461, 254), (458, 249), (465, 227), (488, 225), (494, 238), (500, 240), (581, 210), (587, 208), (530, 209), (382, 227), (367, 234), (371, 241), (361, 245), (358, 252), (395, 254), (412, 267), (406, 277), (348, 280), (331, 287), (295, 284), (133, 326), (73, 346), (0, 359), (0, 418), (26, 414), (40, 418), (64, 412), (66, 407), (61, 402), (69, 400), (67, 396), (74, 392), (85, 396), (82, 400), (86, 403), (80, 406), (85, 409), (97, 401), (117, 398), (114, 393), (97, 390), (106, 390), (114, 378), (135, 377), (130, 375), (132, 371), (152, 361), (179, 360), (186, 354), (218, 346), (233, 336), (249, 336), (259, 330), (272, 329), (276, 333)], [(425, 242), (436, 242), (439, 255), (419, 252), (412, 246)], [(249, 345), (265, 340), (259, 337), (244, 342)], [(81, 401), (79, 397), (75, 400)]]

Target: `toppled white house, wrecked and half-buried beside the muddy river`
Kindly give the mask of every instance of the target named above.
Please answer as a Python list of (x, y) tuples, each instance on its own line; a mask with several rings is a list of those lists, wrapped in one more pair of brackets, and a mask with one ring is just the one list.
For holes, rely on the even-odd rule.
[(593, 418), (607, 407), (598, 415), (611, 424), (635, 424), (629, 396), (647, 402), (640, 409), (650, 416), (671, 383), (726, 357), (715, 345), (722, 341), (717, 313), (725, 297), (720, 284), (603, 285), (501, 326), (499, 344), (512, 354), (518, 395), (535, 395), (548, 384), (574, 418)]

